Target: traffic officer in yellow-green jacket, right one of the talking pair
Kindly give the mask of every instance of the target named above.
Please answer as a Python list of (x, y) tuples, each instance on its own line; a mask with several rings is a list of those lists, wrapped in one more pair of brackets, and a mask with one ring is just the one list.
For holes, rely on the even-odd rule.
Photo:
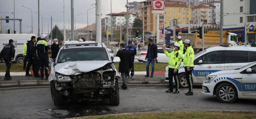
[(184, 46), (187, 48), (184, 58), (183, 58), (183, 64), (185, 67), (185, 74), (186, 74), (186, 79), (189, 84), (189, 92), (185, 93), (186, 95), (193, 95), (193, 79), (192, 79), (192, 70), (194, 67), (194, 59), (195, 59), (195, 54), (194, 50), (191, 46), (190, 40), (186, 39), (184, 42)]

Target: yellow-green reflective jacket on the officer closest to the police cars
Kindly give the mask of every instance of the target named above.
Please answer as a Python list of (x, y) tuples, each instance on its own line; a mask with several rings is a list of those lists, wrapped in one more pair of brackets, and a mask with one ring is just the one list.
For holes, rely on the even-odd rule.
[(195, 53), (192, 46), (188, 47), (183, 58), (184, 67), (193, 67), (195, 60)]

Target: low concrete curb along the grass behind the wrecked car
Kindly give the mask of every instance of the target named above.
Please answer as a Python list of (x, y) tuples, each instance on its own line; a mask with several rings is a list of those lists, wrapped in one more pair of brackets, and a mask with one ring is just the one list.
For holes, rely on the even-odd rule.
[[(141, 82), (148, 81), (150, 84), (168, 84), (164, 79), (154, 78), (154, 79), (128, 79), (128, 84), (141, 84)], [(118, 79), (118, 83), (122, 84), (123, 80)], [(0, 81), (0, 87), (12, 87), (12, 86), (27, 86), (27, 85), (50, 85), (48, 80), (9, 80), (9, 81)]]

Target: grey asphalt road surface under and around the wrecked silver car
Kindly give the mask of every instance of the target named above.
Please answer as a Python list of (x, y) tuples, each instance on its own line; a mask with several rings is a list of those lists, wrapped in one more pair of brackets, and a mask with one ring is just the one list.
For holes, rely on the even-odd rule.
[(149, 111), (180, 110), (252, 110), (255, 100), (240, 99), (233, 104), (218, 102), (215, 96), (201, 93), (201, 86), (194, 88), (193, 96), (165, 93), (168, 85), (128, 85), (120, 89), (119, 106), (110, 106), (108, 100), (100, 104), (88, 102), (69, 103), (64, 107), (54, 106), (50, 87), (0, 89), (0, 118), (71, 118), (80, 116), (136, 113)]

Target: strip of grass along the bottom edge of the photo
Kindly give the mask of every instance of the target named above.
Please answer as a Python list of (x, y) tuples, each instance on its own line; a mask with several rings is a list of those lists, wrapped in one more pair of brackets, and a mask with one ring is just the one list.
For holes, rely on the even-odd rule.
[(176, 111), (160, 113), (90, 116), (79, 119), (255, 119), (253, 112)]

